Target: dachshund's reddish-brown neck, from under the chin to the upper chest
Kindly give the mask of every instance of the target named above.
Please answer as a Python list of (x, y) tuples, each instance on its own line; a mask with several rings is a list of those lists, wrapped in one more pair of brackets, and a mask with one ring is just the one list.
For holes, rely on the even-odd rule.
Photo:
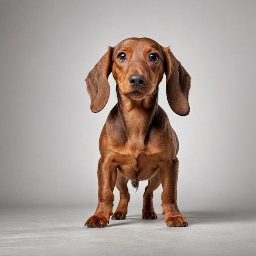
[(154, 94), (141, 100), (134, 100), (121, 94), (117, 85), (118, 108), (128, 137), (135, 136), (142, 139), (147, 136), (150, 124), (157, 112), (157, 94), (158, 88)]

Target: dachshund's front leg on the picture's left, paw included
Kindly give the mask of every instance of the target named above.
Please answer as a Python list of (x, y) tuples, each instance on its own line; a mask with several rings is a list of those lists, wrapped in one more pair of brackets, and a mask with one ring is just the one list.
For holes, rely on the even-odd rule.
[(114, 194), (117, 180), (117, 168), (99, 159), (98, 164), (98, 207), (92, 217), (86, 222), (87, 227), (106, 227), (112, 213)]

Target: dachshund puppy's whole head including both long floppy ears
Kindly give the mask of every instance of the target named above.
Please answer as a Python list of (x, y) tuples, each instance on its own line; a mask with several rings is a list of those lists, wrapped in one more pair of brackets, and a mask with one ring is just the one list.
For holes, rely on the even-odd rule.
[(162, 47), (150, 38), (128, 38), (115, 47), (109, 47), (85, 79), (92, 112), (99, 112), (108, 102), (108, 76), (111, 72), (119, 92), (133, 100), (157, 92), (165, 72), (171, 109), (178, 115), (189, 114), (190, 76), (169, 47)]

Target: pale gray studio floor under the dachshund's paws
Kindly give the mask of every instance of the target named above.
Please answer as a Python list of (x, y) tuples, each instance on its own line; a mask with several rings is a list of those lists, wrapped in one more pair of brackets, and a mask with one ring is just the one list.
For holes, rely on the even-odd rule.
[(83, 227), (94, 207), (0, 209), (0, 255), (256, 255), (256, 212), (183, 211), (189, 227), (142, 220), (132, 206), (126, 220)]

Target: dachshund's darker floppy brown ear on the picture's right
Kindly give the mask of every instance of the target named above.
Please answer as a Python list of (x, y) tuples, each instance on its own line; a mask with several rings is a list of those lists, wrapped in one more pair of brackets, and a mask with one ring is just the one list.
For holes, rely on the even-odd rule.
[(190, 80), (188, 72), (173, 56), (169, 47), (163, 47), (165, 58), (166, 94), (171, 109), (180, 116), (189, 114)]

